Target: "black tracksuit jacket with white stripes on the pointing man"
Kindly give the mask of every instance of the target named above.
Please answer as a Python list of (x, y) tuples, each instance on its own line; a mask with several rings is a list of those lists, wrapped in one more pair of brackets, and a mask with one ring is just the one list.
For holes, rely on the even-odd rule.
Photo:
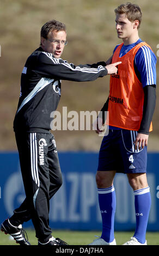
[(61, 80), (93, 81), (107, 75), (105, 62), (75, 66), (39, 47), (27, 59), (21, 75), (21, 93), (14, 119), (15, 132), (48, 133), (61, 94)]

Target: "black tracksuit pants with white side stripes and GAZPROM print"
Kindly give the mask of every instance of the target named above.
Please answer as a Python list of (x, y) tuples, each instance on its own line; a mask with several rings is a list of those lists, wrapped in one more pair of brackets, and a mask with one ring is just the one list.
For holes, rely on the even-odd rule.
[(36, 237), (47, 242), (49, 200), (62, 185), (56, 142), (52, 133), (15, 133), (26, 199), (9, 218), (14, 224), (32, 219)]

